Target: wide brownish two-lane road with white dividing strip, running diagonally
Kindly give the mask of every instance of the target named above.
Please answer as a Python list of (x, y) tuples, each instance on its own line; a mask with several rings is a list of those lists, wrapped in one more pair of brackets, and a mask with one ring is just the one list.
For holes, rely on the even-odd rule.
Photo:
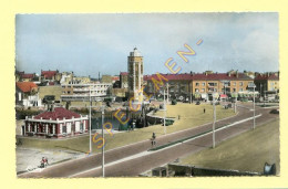
[[(238, 107), (238, 114), (216, 123), (216, 128), (229, 125), (253, 116), (253, 106), (245, 105)], [(269, 122), (279, 117), (279, 115), (269, 114), (270, 109), (257, 107), (256, 125)], [(251, 129), (253, 119), (237, 124), (216, 132), (216, 145), (223, 140), (237, 136)], [(198, 126), (196, 128), (181, 130), (157, 137), (157, 146), (171, 141), (194, 136), (212, 129), (212, 123)], [(136, 177), (140, 174), (151, 170), (152, 168), (172, 162), (175, 159), (187, 154), (197, 153), (205, 148), (212, 147), (212, 134), (195, 138), (178, 145), (169, 146), (156, 151), (151, 149), (151, 141), (144, 140), (121, 148), (111, 149), (105, 153), (105, 177)], [(101, 177), (102, 176), (102, 155), (96, 154), (90, 157), (70, 160), (43, 169), (41, 172), (27, 172), (19, 175), (19, 178), (59, 178), (59, 177)]]

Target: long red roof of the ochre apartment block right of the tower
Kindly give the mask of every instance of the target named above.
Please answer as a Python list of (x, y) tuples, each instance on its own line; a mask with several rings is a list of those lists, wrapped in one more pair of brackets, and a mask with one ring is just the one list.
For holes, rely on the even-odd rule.
[[(230, 74), (228, 75), (227, 73), (213, 73), (213, 74), (204, 74), (204, 73), (194, 73), (194, 74), (161, 74), (165, 78), (169, 81), (175, 81), (175, 80), (186, 80), (186, 81), (192, 81), (192, 80), (203, 80), (203, 81), (219, 81), (219, 80), (253, 80), (249, 76), (245, 75), (244, 73), (238, 73), (238, 76), (236, 74)], [(144, 80), (148, 81), (152, 80), (152, 77), (158, 80), (156, 74), (153, 75), (145, 75)]]

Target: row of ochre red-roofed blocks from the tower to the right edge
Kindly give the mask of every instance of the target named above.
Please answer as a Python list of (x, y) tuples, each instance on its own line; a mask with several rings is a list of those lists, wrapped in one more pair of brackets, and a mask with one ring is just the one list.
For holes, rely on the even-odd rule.
[[(144, 77), (146, 83), (146, 93), (163, 94), (165, 86), (169, 95), (174, 97), (185, 98), (203, 98), (209, 99), (212, 94), (218, 96), (245, 97), (253, 95), (253, 88), (249, 86), (256, 84), (256, 93), (261, 96), (279, 93), (279, 73), (256, 73), (254, 77), (238, 71), (229, 71), (227, 73), (213, 73), (206, 71), (204, 73), (184, 73), (184, 74), (162, 74), (167, 82), (163, 80), (164, 85), (157, 92), (154, 86), (153, 78), (158, 80), (156, 74)], [(157, 95), (155, 94), (155, 96)]]

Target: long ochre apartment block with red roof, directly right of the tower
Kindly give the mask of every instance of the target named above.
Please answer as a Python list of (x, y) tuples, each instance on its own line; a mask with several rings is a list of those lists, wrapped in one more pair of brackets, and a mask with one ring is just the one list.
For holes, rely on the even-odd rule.
[[(228, 73), (213, 73), (206, 71), (204, 73), (184, 73), (184, 74), (162, 74), (167, 82), (163, 80), (165, 87), (168, 88), (171, 97), (181, 101), (185, 98), (203, 98), (210, 99), (212, 94), (215, 96), (238, 96), (241, 94), (250, 94), (248, 85), (254, 80), (244, 73), (237, 71)], [(150, 94), (162, 94), (163, 86), (160, 91), (155, 90), (152, 78), (158, 80), (157, 75), (145, 76), (147, 85), (145, 91)], [(166, 83), (168, 85), (166, 85)], [(166, 90), (167, 90), (166, 88)]]

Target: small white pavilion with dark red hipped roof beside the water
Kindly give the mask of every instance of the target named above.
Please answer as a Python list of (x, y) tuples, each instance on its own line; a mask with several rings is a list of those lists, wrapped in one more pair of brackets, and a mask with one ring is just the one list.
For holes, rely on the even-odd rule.
[(63, 107), (50, 107), (37, 116), (27, 117), (25, 136), (62, 138), (88, 133), (89, 117)]

